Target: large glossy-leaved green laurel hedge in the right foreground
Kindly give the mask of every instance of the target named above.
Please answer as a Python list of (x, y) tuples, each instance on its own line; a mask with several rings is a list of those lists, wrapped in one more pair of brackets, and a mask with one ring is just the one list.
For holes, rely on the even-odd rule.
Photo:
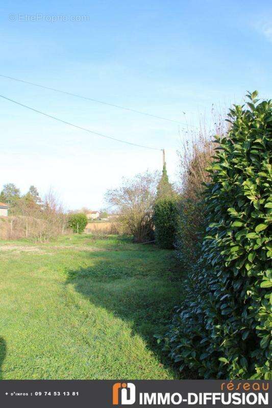
[(271, 378), (272, 102), (248, 96), (217, 138), (208, 235), (165, 343), (181, 370), (205, 378)]

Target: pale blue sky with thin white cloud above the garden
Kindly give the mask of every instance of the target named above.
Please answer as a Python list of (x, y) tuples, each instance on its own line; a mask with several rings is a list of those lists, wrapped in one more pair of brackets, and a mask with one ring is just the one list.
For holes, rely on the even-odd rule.
[[(246, 90), (271, 96), (269, 1), (5, 3), (0, 74), (195, 126), (200, 115), (210, 122), (212, 104), (224, 110)], [(63, 120), (164, 147), (171, 180), (177, 178), (176, 150), (188, 137), (182, 125), (1, 77), (0, 87)], [(24, 192), (34, 184), (42, 194), (54, 187), (67, 208), (99, 209), (122, 175), (161, 168), (159, 151), (92, 136), (1, 98), (0, 124), (0, 187), (12, 182)]]

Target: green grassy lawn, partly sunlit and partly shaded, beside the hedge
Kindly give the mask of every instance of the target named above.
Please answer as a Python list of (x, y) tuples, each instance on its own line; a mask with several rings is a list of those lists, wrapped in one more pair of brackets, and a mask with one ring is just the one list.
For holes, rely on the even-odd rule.
[(0, 288), (0, 378), (177, 378), (153, 337), (181, 300), (171, 251), (115, 236), (0, 241)]

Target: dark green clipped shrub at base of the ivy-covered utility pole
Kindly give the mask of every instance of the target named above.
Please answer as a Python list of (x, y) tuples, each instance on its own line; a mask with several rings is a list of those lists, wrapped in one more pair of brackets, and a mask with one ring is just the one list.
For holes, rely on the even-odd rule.
[(161, 248), (174, 248), (177, 228), (177, 199), (161, 198), (154, 206), (155, 240)]

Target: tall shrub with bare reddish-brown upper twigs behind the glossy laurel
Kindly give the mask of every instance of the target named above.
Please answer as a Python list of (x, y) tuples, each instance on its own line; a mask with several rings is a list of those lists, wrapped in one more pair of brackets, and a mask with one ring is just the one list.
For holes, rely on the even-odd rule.
[[(215, 131), (224, 135), (227, 126), (221, 117), (214, 120)], [(201, 255), (202, 237), (205, 232), (204, 183), (210, 180), (206, 170), (212, 162), (212, 136), (205, 123), (200, 123), (200, 131), (190, 132), (190, 140), (184, 141), (179, 152), (180, 199), (176, 230), (176, 254), (181, 266), (190, 273), (195, 269)]]

